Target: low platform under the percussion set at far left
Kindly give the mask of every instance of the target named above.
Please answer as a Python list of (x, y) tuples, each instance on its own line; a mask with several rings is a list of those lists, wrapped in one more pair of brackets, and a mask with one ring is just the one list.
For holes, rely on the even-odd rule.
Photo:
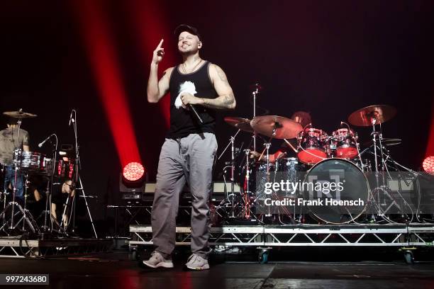
[(106, 252), (113, 239), (0, 237), (0, 258), (50, 258)]

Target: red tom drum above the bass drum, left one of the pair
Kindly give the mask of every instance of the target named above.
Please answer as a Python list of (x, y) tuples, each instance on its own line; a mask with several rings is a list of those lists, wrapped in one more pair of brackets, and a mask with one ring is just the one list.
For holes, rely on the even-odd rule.
[(318, 128), (306, 128), (299, 134), (297, 157), (305, 164), (316, 164), (327, 159), (328, 135)]

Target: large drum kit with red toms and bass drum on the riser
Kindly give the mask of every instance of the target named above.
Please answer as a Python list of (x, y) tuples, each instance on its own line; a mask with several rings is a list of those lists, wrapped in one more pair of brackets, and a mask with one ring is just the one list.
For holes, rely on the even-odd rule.
[[(279, 223), (283, 224), (282, 216), (286, 217), (290, 224), (303, 223), (308, 219), (325, 224), (393, 222), (384, 208), (379, 205), (381, 202), (378, 192), (384, 192), (386, 188), (384, 173), (389, 172), (391, 167), (394, 169), (400, 167), (417, 174), (417, 172), (396, 163), (389, 154), (388, 147), (399, 145), (401, 140), (382, 136), (382, 125), (394, 118), (395, 115), (396, 109), (394, 107), (375, 105), (361, 108), (348, 116), (347, 122), (350, 125), (372, 128), (372, 140), (362, 144), (366, 147), (362, 151), (356, 130), (344, 121), (340, 123), (341, 128), (328, 134), (311, 124), (302, 127), (295, 120), (277, 115), (254, 116), (252, 120), (237, 117), (224, 118), (228, 125), (238, 129), (238, 131), (230, 137), (228, 146), (218, 157), (220, 159), (228, 147), (231, 147), (230, 166), (227, 166), (225, 170), (226, 172), (228, 171), (227, 168), (230, 168), (230, 192), (224, 200), (226, 204), (220, 208), (226, 208), (228, 218), (255, 222), (266, 222), (268, 217), (269, 220), (277, 220), (278, 218)], [(264, 141), (264, 149), (259, 158), (252, 157), (255, 154), (252, 154), (250, 144), (247, 149), (243, 150), (243, 160), (237, 166), (234, 154), (236, 151), (235, 137), (241, 131), (251, 134), (252, 142), (256, 142), (257, 135), (269, 137), (269, 140)], [(294, 151), (296, 157), (279, 157), (270, 162), (269, 148), (272, 139), (286, 142), (289, 151)], [(256, 144), (253, 149), (256, 149)], [(237, 170), (239, 178), (235, 176)], [(331, 208), (326, 205), (306, 205), (297, 208), (294, 206), (293, 210), (289, 210), (287, 206), (281, 206), (273, 212), (270, 212), (269, 208), (268, 211), (264, 210), (264, 207), (259, 205), (269, 196), (278, 200), (286, 197), (306, 198), (306, 191), (300, 189), (296, 192), (286, 191), (280, 196), (275, 193), (267, 195), (264, 191), (265, 183), (280, 183), (281, 181), (295, 183), (300, 179), (304, 181), (318, 179), (318, 176), (325, 172), (329, 174), (330, 171), (343, 171), (347, 176), (347, 181), (352, 183), (350, 188), (340, 192), (341, 199), (363, 200), (362, 205), (355, 206), (351, 211), (345, 206)], [(370, 176), (374, 177), (369, 179)], [(239, 195), (234, 191), (236, 183), (239, 183), (240, 186)], [(365, 218), (363, 221), (361, 221), (362, 216)], [(408, 218), (407, 216), (404, 217), (404, 221), (408, 221)], [(267, 222), (273, 223), (273, 221)]]

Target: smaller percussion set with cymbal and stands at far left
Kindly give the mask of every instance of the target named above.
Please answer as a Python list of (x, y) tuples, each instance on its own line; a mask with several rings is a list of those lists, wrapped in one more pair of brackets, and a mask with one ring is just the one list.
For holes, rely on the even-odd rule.
[[(0, 202), (3, 203), (3, 210), (0, 213), (0, 234), (6, 233), (6, 235), (9, 236), (28, 232), (29, 234), (40, 234), (42, 239), (44, 239), (44, 234), (47, 235), (56, 233), (65, 237), (68, 236), (69, 233), (74, 233), (74, 224), (69, 226), (69, 223), (74, 222), (75, 198), (72, 200), (72, 209), (69, 211), (69, 217), (67, 217), (68, 222), (58, 222), (55, 217), (53, 217), (51, 213), (51, 203), (52, 185), (57, 184), (55, 183), (57, 181), (62, 182), (66, 179), (72, 180), (72, 186), (74, 187), (74, 184), (79, 185), (79, 188), (75, 189), (82, 191), (82, 194), (84, 195), (84, 189), (78, 174), (79, 154), (77, 152), (77, 115), (74, 115), (74, 119), (72, 119), (72, 123), (74, 123), (74, 133), (76, 135), (76, 149), (74, 156), (67, 154), (64, 147), (62, 147), (59, 151), (57, 135), (52, 134), (38, 145), (38, 147), (42, 147), (45, 142), (50, 142), (52, 144), (52, 156), (48, 157), (48, 155), (42, 154), (40, 152), (28, 152), (23, 150), (23, 137), (20, 139), (19, 136), (20, 132), (22, 132), (20, 129), (22, 120), (36, 118), (37, 115), (23, 112), (22, 109), (19, 111), (6, 111), (3, 114), (9, 118), (16, 119), (16, 126), (18, 128), (13, 128), (13, 130), (17, 129), (18, 134), (16, 140), (15, 137), (13, 137), (15, 148), (12, 152), (12, 163), (1, 164), (3, 168), (2, 171), (5, 171), (6, 167), (11, 167), (13, 169), (14, 182), (11, 183), (11, 180), (9, 180), (8, 183), (5, 183), (6, 174), (2, 176), (3, 180), (1, 181), (3, 181), (4, 185), (2, 186), (0, 193)], [(70, 118), (72, 118), (72, 114)], [(52, 139), (53, 141), (51, 141)], [(71, 150), (72, 146), (68, 149)], [(42, 181), (45, 188), (38, 188), (38, 190), (42, 189), (45, 191), (45, 210), (40, 212), (40, 215), (35, 218), (28, 210), (27, 205), (28, 197), (34, 193), (34, 191), (29, 191), (29, 188), (33, 188), (31, 180), (36, 178), (45, 180)], [(18, 189), (16, 186), (13, 186), (13, 184), (16, 184), (17, 181), (19, 183), (19, 179), (22, 179), (23, 181), (24, 196), (23, 202), (20, 203), (17, 202), (16, 196)], [(9, 193), (9, 190), (11, 190), (11, 193)], [(8, 203), (9, 199), (10, 201)], [(66, 206), (65, 210), (63, 211), (62, 218), (65, 217), (65, 214)], [(90, 212), (89, 217), (91, 218)], [(91, 223), (93, 226), (92, 221)], [(67, 232), (67, 230), (69, 230), (69, 232)]]

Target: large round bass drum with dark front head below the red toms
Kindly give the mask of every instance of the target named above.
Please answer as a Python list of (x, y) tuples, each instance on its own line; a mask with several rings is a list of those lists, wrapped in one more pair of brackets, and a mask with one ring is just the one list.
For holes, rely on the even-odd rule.
[(315, 219), (345, 224), (365, 211), (369, 182), (363, 171), (345, 159), (325, 159), (301, 183), (304, 205)]

